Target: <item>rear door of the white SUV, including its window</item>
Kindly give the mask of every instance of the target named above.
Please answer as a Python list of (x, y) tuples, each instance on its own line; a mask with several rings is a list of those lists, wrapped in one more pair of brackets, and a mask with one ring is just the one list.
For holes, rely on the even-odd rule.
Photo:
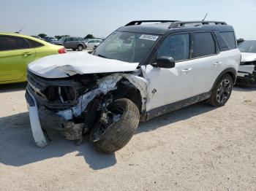
[(200, 95), (211, 90), (219, 75), (219, 66), (225, 59), (219, 54), (219, 48), (211, 31), (192, 33), (192, 59), (195, 61), (195, 84), (192, 95)]

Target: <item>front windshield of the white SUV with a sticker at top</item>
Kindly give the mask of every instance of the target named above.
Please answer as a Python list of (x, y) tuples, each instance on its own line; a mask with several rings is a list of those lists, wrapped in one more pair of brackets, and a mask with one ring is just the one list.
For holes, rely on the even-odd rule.
[(99, 44), (94, 55), (129, 63), (140, 63), (158, 37), (157, 35), (116, 31)]

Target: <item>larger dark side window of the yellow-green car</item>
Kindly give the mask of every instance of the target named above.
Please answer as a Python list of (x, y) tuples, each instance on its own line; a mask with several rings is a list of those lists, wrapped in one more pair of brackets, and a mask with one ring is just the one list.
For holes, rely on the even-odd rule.
[(18, 50), (29, 48), (25, 39), (16, 36), (0, 36), (0, 50)]

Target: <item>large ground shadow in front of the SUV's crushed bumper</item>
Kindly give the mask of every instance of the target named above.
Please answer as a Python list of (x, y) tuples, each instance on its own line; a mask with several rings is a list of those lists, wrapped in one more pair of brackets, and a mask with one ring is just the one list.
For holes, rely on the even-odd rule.
[(73, 141), (64, 140), (55, 130), (48, 130), (48, 135), (53, 141), (48, 140), (48, 147), (39, 148), (34, 143), (28, 112), (1, 117), (0, 163), (22, 166), (78, 152), (75, 156), (83, 156), (86, 163), (94, 170), (108, 168), (116, 164), (114, 154), (103, 155), (94, 151), (89, 141), (83, 141), (80, 146), (75, 146)]

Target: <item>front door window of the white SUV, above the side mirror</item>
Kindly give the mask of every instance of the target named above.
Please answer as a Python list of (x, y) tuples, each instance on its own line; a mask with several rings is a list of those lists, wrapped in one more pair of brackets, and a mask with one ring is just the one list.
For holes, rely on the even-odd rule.
[(169, 56), (175, 61), (189, 59), (189, 34), (174, 34), (168, 36), (159, 47), (157, 57)]

